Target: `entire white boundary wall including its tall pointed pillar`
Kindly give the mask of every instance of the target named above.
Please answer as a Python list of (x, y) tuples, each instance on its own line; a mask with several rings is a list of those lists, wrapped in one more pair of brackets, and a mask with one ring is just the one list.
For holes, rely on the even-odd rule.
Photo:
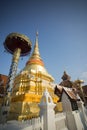
[[(65, 94), (64, 97), (66, 97)], [(26, 121), (23, 120), (22, 122), (4, 122), (5, 124), (0, 124), (0, 130), (87, 130), (87, 126), (84, 125), (84, 120), (82, 122), (80, 115), (83, 114), (83, 112), (86, 114), (85, 111), (71, 111), (71, 107), (69, 106), (68, 111), (55, 114), (55, 104), (47, 91), (44, 93), (42, 99), (45, 100), (41, 100), (39, 105), (40, 117)], [(67, 108), (66, 105), (64, 104), (65, 110)], [(84, 106), (82, 106), (82, 108), (83, 107)]]

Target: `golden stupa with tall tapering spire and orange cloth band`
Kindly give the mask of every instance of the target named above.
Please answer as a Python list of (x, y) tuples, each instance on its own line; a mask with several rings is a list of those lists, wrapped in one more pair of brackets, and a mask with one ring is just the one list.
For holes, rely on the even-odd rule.
[(48, 89), (54, 103), (58, 96), (54, 94), (53, 77), (48, 74), (38, 48), (38, 33), (33, 53), (24, 69), (16, 76), (11, 95), (10, 118), (28, 119), (39, 114), (38, 103), (45, 89)]

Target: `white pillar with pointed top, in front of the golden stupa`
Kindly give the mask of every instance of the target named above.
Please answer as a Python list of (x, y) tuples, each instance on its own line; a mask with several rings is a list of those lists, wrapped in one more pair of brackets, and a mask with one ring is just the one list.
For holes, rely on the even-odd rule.
[(40, 116), (43, 117), (43, 130), (55, 130), (55, 104), (46, 90), (41, 98), (40, 106)]

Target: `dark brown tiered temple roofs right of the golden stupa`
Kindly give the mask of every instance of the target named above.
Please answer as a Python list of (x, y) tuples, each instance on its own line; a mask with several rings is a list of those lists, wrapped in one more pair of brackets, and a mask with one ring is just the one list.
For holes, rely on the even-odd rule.
[(82, 86), (82, 83), (84, 83), (83, 80), (77, 79), (75, 81), (71, 81), (71, 77), (64, 71), (63, 76), (61, 77), (62, 82), (60, 82), (58, 85), (55, 86), (54, 93), (60, 97), (59, 100), (61, 100), (62, 90), (63, 87), (68, 89), (72, 89), (73, 92), (81, 98), (81, 100), (84, 102), (84, 104), (87, 104), (87, 93), (86, 88), (87, 85)]

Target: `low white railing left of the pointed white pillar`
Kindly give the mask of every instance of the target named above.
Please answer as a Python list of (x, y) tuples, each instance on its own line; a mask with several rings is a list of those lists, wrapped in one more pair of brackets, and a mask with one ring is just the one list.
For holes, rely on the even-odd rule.
[(27, 121), (8, 121), (0, 125), (0, 130), (43, 130), (43, 121), (40, 117)]

